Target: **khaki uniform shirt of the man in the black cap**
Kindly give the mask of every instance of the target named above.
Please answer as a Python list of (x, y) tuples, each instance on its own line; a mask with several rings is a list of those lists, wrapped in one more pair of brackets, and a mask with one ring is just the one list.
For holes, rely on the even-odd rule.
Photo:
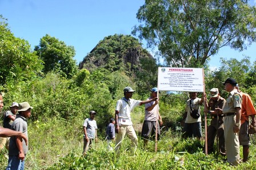
[(242, 94), (237, 89), (232, 90), (226, 99), (226, 103), (222, 109), (222, 113), (236, 113), (235, 107), (242, 108)]

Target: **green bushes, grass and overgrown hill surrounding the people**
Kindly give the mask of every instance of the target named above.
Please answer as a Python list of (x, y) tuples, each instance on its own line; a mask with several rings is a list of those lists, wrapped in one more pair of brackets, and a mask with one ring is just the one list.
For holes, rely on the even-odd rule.
[[(148, 2), (150, 1), (146, 1)], [(209, 1), (204, 2), (209, 5)], [(157, 3), (162, 4), (160, 1), (155, 1), (151, 5), (157, 5)], [(230, 3), (237, 3), (241, 5), (239, 7), (247, 7), (238, 1)], [(193, 10), (193, 7), (199, 7), (197, 6), (199, 1), (191, 1), (190, 5)], [(205, 4), (202, 3), (202, 5)], [(155, 6), (151, 7), (158, 10)], [(250, 10), (251, 8), (244, 9), (244, 13)], [(230, 12), (232, 12), (230, 16), (237, 13), (235, 10)], [(202, 13), (206, 11), (202, 10), (198, 14)], [(190, 16), (195, 14), (193, 12)], [(244, 20), (246, 19), (248, 18)], [(165, 20), (162, 21), (165, 23)], [(216, 24), (215, 22), (217, 22), (216, 19), (211, 24)], [(251, 22), (254, 23), (255, 20)], [(184, 27), (180, 28), (182, 30)], [(239, 33), (239, 30), (240, 28), (235, 27), (233, 31)], [(189, 38), (190, 34), (185, 33), (182, 32), (182, 36)], [(254, 32), (248, 34), (249, 43), (253, 34)], [(227, 40), (226, 35), (214, 36), (218, 38), (222, 36), (223, 41)], [(238, 40), (241, 39), (238, 37), (230, 39), (230, 43), (236, 44)], [(216, 53), (220, 47), (220, 44), (215, 45), (217, 45), (216, 50), (210, 51), (211, 55)], [(243, 43), (241, 45), (234, 47), (242, 48)], [(172, 48), (174, 46), (168, 48), (176, 53), (178, 48)], [(179, 44), (179, 47), (183, 48), (182, 44)], [(193, 45), (191, 47), (195, 48)], [(161, 47), (159, 50), (163, 56), (167, 55), (164, 48)], [(185, 49), (181, 51), (184, 52)], [(199, 53), (202, 54), (202, 51)], [(202, 151), (203, 141), (181, 139), (181, 119), (187, 100), (187, 94), (183, 92), (159, 94), (159, 107), (164, 124), (161, 128), (161, 140), (158, 142), (157, 152), (154, 152), (154, 142), (150, 142), (146, 148), (143, 148), (143, 140), (140, 138), (135, 156), (130, 155), (130, 140), (127, 138), (122, 144), (121, 157), (117, 158), (114, 152), (106, 150), (105, 128), (109, 119), (114, 117), (115, 103), (117, 99), (123, 97), (123, 88), (131, 86), (137, 91), (133, 98), (145, 100), (149, 97), (149, 89), (157, 86), (158, 63), (146, 49), (141, 47), (138, 39), (130, 35), (116, 34), (104, 38), (79, 64), (78, 70), (73, 60), (73, 47), (46, 35), (34, 51), (31, 51), (29, 43), (26, 40), (15, 38), (6, 20), (1, 16), (0, 55), (0, 92), (5, 93), (3, 110), (9, 109), (13, 101), (28, 101), (34, 107), (28, 121), (29, 154), (26, 155), (26, 169), (233, 169), (226, 163), (225, 157), (218, 156), (217, 158), (215, 154), (205, 156)], [(206, 58), (209, 55), (210, 53), (206, 55)], [(185, 56), (188, 56), (187, 53)], [(193, 60), (195, 65), (190, 61), (187, 65), (201, 65), (205, 68), (206, 92), (209, 92), (211, 88), (223, 89), (221, 82), (227, 77), (234, 77), (239, 82), (241, 90), (251, 94), (255, 103), (256, 61), (250, 63), (249, 57), (241, 61), (222, 59), (221, 67), (213, 71), (204, 63), (203, 60), (206, 58), (202, 57), (205, 56), (199, 56), (198, 61), (201, 63), (195, 64), (197, 57), (193, 56), (195, 58), (192, 57), (193, 59), (190, 60)], [(186, 57), (182, 60), (173, 57), (172, 60), (178, 63), (177, 66), (186, 66), (186, 64), (180, 65), (181, 62), (188, 61)], [(166, 60), (169, 61), (169, 58)], [(225, 97), (227, 93), (221, 90), (221, 96)], [(199, 94), (199, 97), (202, 97), (202, 94)], [(97, 112), (99, 142), (94, 143), (94, 147), (88, 154), (82, 156), (82, 125), (83, 120), (89, 117), (90, 110)], [(138, 136), (144, 111), (144, 107), (141, 106), (137, 107), (132, 114)], [(255, 136), (252, 137), (249, 162), (239, 165), (239, 169), (255, 169), (253, 162), (256, 156), (256, 142)], [(7, 165), (5, 154), (7, 154), (6, 150), (1, 151), (0, 169), (5, 169)]]

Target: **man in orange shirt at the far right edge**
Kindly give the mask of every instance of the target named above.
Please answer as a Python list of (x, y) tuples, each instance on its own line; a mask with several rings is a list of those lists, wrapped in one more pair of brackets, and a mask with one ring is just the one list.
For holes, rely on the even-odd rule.
[(253, 106), (253, 101), (249, 94), (241, 92), (239, 90), (238, 84), (235, 86), (237, 91), (242, 94), (242, 109), (241, 109), (241, 127), (239, 130), (239, 143), (243, 146), (243, 162), (246, 162), (249, 156), (249, 134), (248, 134), (248, 125), (249, 125), (249, 116), (252, 119), (251, 125), (255, 126), (255, 114), (256, 110)]

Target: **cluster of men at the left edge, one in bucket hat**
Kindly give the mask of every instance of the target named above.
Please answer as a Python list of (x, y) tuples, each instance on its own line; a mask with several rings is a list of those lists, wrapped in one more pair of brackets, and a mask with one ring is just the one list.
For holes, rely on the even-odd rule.
[[(3, 96), (0, 94), (0, 111), (3, 108)], [(3, 126), (0, 127), (1, 148), (9, 150), (9, 159), (6, 170), (23, 170), (25, 156), (28, 151), (27, 118), (31, 116), (31, 107), (28, 102), (13, 102), (10, 110), (4, 115)], [(16, 113), (17, 114), (16, 115)], [(9, 138), (10, 137), (10, 138)], [(9, 139), (9, 140), (8, 140)]]

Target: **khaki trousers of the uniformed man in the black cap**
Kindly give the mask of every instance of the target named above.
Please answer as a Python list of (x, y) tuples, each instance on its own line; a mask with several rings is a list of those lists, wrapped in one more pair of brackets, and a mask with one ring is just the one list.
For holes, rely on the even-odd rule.
[(224, 117), (224, 135), (227, 152), (227, 162), (235, 166), (239, 164), (239, 139), (238, 134), (234, 133), (235, 115)]

